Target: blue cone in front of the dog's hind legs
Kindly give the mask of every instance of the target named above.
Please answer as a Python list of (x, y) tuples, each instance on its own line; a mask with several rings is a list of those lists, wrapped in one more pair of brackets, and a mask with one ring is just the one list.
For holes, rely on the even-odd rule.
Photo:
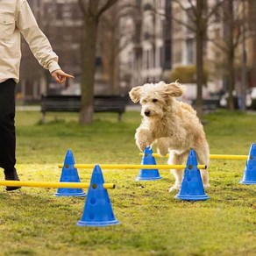
[(187, 167), (181, 182), (181, 189), (175, 196), (181, 200), (203, 201), (209, 199), (204, 192), (203, 181), (197, 168), (196, 152), (191, 149), (188, 154)]

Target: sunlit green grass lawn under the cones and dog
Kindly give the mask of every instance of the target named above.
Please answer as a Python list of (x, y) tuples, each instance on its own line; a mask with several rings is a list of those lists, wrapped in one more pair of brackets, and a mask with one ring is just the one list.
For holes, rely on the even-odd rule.
[[(139, 164), (134, 132), (139, 112), (96, 114), (91, 126), (76, 114), (17, 113), (18, 173), (23, 181), (59, 181), (72, 149), (77, 163)], [(256, 115), (219, 111), (205, 117), (211, 153), (248, 154), (255, 141)], [(166, 159), (157, 159), (165, 164)], [(53, 188), (0, 188), (0, 255), (255, 255), (256, 187), (238, 183), (244, 160), (211, 160), (210, 200), (189, 203), (167, 190), (168, 171), (160, 181), (136, 182), (139, 170), (103, 170), (114, 214), (120, 225), (77, 227), (82, 198), (58, 198)], [(0, 173), (4, 178), (4, 174)], [(81, 170), (88, 182), (91, 170)]]

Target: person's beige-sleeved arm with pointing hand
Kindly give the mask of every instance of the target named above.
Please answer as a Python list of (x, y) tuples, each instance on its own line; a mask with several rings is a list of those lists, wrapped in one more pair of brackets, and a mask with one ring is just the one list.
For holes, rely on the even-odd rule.
[(39, 29), (36, 19), (32, 13), (29, 4), (25, 0), (20, 1), (18, 6), (17, 26), (24, 35), (25, 40), (30, 46), (35, 58), (39, 64), (50, 73), (56, 82), (64, 82), (66, 78), (74, 78), (63, 72), (58, 64), (58, 56), (53, 52), (46, 35)]

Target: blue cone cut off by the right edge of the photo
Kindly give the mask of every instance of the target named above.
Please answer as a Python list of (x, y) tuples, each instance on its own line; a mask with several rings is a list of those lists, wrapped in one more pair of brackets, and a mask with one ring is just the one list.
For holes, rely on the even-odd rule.
[(256, 144), (252, 143), (250, 152), (246, 161), (245, 172), (242, 181), (239, 183), (246, 185), (256, 184)]

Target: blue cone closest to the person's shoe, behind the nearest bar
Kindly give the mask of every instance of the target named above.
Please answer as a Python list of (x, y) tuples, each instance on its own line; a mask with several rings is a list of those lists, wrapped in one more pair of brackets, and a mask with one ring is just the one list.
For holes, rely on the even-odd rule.
[[(77, 169), (74, 165), (75, 159), (73, 153), (71, 150), (68, 150), (62, 168), (60, 182), (80, 182)], [(82, 188), (58, 188), (54, 196), (86, 196), (86, 194), (82, 191)]]

